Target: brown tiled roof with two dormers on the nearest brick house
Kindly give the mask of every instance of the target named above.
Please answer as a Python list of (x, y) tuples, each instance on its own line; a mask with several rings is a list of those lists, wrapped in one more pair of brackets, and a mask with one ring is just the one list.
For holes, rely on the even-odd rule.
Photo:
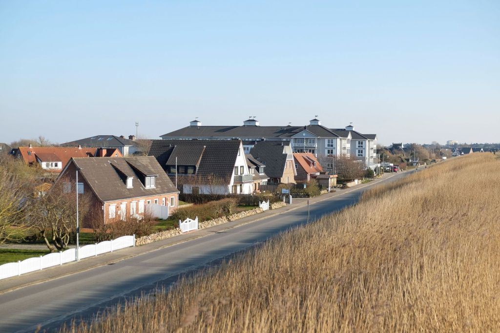
[[(80, 174), (102, 201), (178, 192), (153, 156), (72, 158), (70, 162), (81, 168)], [(145, 188), (142, 183), (141, 173), (149, 173), (149, 171), (137, 171), (130, 163), (143, 165), (149, 171), (154, 170), (154, 173), (158, 175), (155, 188)], [(126, 175), (133, 176), (132, 188), (126, 187), (125, 181), (116, 168)]]

